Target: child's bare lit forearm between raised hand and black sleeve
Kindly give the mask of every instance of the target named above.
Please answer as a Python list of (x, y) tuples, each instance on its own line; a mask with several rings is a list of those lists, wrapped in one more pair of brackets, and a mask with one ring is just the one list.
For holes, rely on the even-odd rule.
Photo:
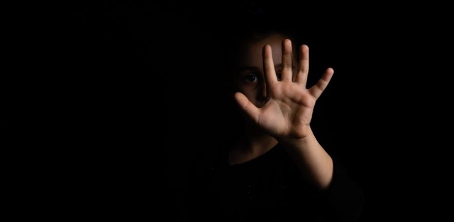
[(303, 139), (281, 139), (285, 150), (303, 177), (320, 190), (328, 188), (333, 177), (333, 160), (318, 143), (312, 130)]

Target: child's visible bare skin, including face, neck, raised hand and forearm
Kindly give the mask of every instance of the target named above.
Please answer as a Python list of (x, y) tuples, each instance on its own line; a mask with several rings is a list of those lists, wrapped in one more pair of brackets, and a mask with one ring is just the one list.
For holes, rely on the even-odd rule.
[[(318, 143), (310, 123), (315, 103), (334, 70), (326, 69), (316, 85), (306, 88), (309, 49), (306, 45), (299, 48), (300, 59), (295, 70), (292, 43), (282, 39), (281, 35), (271, 35), (246, 49), (243, 65), (247, 68), (240, 71), (238, 92), (234, 95), (248, 118), (246, 135), (240, 144), (232, 147), (229, 161), (235, 164), (257, 158), (279, 142), (303, 177), (323, 190), (332, 180), (333, 161)], [(276, 50), (281, 41), (281, 50)], [(262, 62), (257, 56), (260, 49)], [(278, 62), (276, 66), (274, 61)]]

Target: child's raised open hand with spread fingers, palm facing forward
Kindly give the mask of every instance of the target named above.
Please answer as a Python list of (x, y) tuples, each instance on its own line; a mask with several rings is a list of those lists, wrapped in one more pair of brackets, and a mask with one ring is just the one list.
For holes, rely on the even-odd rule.
[(248, 116), (269, 135), (301, 139), (310, 133), (315, 102), (330, 82), (334, 70), (326, 69), (317, 84), (306, 89), (309, 69), (309, 48), (306, 45), (300, 47), (295, 77), (292, 63), (292, 43), (287, 39), (282, 42), (282, 77), (278, 81), (271, 46), (266, 45), (263, 48), (263, 70), (267, 102), (258, 108), (242, 93), (236, 93), (235, 99)]

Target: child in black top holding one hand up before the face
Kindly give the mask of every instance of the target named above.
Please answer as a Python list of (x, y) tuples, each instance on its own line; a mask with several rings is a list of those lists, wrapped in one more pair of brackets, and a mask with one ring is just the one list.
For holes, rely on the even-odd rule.
[(306, 86), (306, 45), (293, 48), (279, 32), (249, 37), (235, 43), (240, 50), (229, 61), (242, 134), (233, 145), (208, 149), (194, 161), (188, 219), (357, 220), (362, 194), (310, 125), (334, 70), (326, 69), (316, 85)]

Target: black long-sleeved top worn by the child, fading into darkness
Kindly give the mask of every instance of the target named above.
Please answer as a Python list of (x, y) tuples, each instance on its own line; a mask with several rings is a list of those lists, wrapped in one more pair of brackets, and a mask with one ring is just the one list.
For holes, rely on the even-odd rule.
[(362, 194), (342, 166), (333, 162), (333, 180), (328, 189), (318, 192), (279, 144), (234, 165), (229, 165), (227, 149), (205, 150), (194, 161), (188, 179), (189, 221), (355, 221)]

